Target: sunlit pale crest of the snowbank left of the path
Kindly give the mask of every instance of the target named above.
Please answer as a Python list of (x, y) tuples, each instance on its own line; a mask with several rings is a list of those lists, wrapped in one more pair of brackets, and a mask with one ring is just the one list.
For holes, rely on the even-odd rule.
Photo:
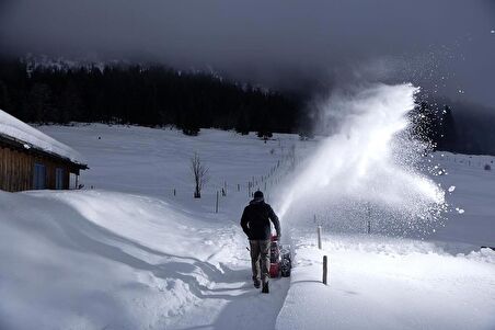
[(88, 221), (160, 253), (199, 260), (212, 253), (211, 249), (197, 249), (204, 243), (198, 228), (205, 232), (216, 228), (158, 198), (105, 191), (30, 194), (71, 206)]

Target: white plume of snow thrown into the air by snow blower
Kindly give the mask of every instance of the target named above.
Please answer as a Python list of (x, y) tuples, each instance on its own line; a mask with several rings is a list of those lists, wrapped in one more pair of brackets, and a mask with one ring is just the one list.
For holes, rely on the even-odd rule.
[(445, 192), (422, 168), (427, 144), (411, 134), (417, 92), (408, 83), (373, 84), (322, 102), (319, 122), (330, 135), (281, 192), (280, 217), (341, 232), (434, 230)]

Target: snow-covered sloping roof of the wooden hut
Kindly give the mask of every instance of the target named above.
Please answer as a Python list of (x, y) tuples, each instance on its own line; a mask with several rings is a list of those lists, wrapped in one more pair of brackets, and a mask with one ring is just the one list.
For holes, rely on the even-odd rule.
[(67, 158), (74, 163), (87, 163), (82, 156), (74, 149), (21, 122), (2, 110), (0, 110), (0, 135), (24, 144), (24, 148), (26, 149), (35, 148), (61, 158)]

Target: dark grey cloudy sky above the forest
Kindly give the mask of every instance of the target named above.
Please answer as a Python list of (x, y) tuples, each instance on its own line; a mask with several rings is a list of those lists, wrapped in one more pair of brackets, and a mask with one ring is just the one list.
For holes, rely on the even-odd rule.
[(0, 11), (2, 53), (152, 60), (292, 89), (413, 81), (495, 109), (494, 0), (0, 0)]

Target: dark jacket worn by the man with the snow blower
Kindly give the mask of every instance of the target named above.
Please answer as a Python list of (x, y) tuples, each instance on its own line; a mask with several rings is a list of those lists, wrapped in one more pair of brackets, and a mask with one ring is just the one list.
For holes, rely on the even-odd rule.
[(251, 201), (244, 208), (241, 227), (251, 240), (267, 240), (270, 236), (269, 220), (274, 223), (277, 236), (280, 236), (280, 223), (269, 204), (262, 201)]

